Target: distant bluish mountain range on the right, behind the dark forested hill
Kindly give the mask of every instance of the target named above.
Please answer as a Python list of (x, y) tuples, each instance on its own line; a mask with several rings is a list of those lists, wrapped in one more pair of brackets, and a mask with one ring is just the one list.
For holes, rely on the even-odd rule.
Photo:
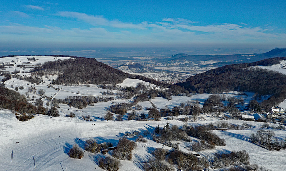
[(185, 53), (178, 53), (170, 56), (169, 62), (183, 62), (183, 63), (200, 63), (201, 61), (215, 61), (211, 64), (201, 66), (214, 66), (219, 67), (227, 64), (255, 62), (266, 58), (285, 57), (286, 48), (273, 49), (266, 53), (253, 53), (253, 54), (233, 54), (233, 55), (188, 55)]

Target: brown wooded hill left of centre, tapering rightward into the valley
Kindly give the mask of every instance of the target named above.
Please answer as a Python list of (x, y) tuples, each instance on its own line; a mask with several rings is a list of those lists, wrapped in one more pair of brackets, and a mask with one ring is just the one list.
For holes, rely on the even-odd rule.
[(45, 62), (31, 70), (36, 76), (58, 75), (53, 84), (118, 84), (126, 78), (140, 79), (155, 85), (169, 86), (150, 78), (114, 69), (95, 58), (66, 59)]

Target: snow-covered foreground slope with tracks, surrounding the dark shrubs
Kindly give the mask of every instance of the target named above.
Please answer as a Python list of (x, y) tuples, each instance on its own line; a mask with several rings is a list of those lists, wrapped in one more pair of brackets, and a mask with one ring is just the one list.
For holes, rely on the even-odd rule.
[[(188, 122), (190, 125), (206, 124), (216, 121), (215, 118), (203, 115), (206, 121)], [(97, 161), (102, 154), (84, 153), (82, 159), (71, 159), (67, 151), (71, 146), (77, 143), (81, 148), (84, 141), (88, 138), (95, 138), (99, 143), (104, 141), (112, 142), (116, 145), (118, 139), (128, 131), (148, 130), (153, 132), (154, 128), (165, 125), (169, 122), (171, 125), (181, 126), (183, 122), (177, 120), (161, 121), (97, 121), (80, 122), (65, 117), (47, 117), (40, 115), (27, 121), (20, 122), (15, 115), (7, 110), (0, 111), (0, 168), (3, 170), (102, 170), (98, 168)], [(234, 124), (242, 124), (241, 120), (229, 120)], [(250, 142), (251, 133), (255, 133), (262, 125), (261, 122), (248, 122), (254, 125), (253, 128), (246, 130), (225, 130), (214, 131), (221, 138), (226, 139), (226, 146), (216, 146), (215, 150), (206, 150), (198, 152), (201, 156), (208, 159), (213, 157), (215, 152), (226, 152), (232, 150), (247, 150), (250, 155), (250, 162), (265, 166), (272, 170), (283, 169), (286, 160), (285, 150), (269, 151)], [(285, 138), (286, 131), (274, 130), (279, 140)], [(129, 138), (135, 140), (135, 138)], [(122, 166), (119, 170), (141, 170), (141, 162), (147, 161), (151, 156), (150, 150), (154, 148), (170, 147), (162, 146), (147, 137), (147, 143), (138, 143), (133, 151), (131, 161), (122, 160)], [(195, 140), (195, 139), (194, 139)], [(16, 142), (19, 142), (16, 144)], [(191, 142), (190, 142), (191, 143)], [(185, 144), (185, 143), (184, 143)], [(186, 151), (180, 145), (180, 150)], [(13, 162), (11, 162), (11, 153), (13, 150)], [(36, 169), (34, 169), (33, 155), (35, 157)]]

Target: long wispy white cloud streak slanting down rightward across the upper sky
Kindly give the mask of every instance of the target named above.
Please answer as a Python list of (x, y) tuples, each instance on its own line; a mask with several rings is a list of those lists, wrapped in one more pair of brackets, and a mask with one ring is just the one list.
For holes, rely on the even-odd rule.
[[(263, 37), (277, 37), (275, 34), (265, 33), (268, 31), (262, 27), (250, 27), (247, 26), (246, 23), (238, 24), (231, 24), (231, 23), (223, 23), (218, 25), (200, 25), (200, 23), (196, 21), (190, 21), (183, 18), (163, 18), (161, 21), (158, 22), (147, 22), (143, 21), (138, 24), (134, 23), (125, 23), (118, 20), (108, 20), (104, 18), (104, 16), (95, 16), (95, 15), (88, 15), (85, 13), (80, 12), (68, 12), (62, 11), (58, 12), (56, 15), (62, 17), (70, 17), (76, 18), (78, 20), (84, 21), (89, 23), (93, 26), (108, 26), (118, 29), (140, 29), (140, 30), (147, 30), (149, 29), (149, 33), (153, 34), (155, 32), (172, 32), (172, 29), (181, 30), (183, 34), (190, 35), (188, 32), (194, 32), (195, 34), (206, 34), (206, 35), (218, 35), (218, 36), (249, 36), (255, 38), (263, 38)], [(201, 32), (201, 33), (198, 33)], [(279, 37), (279, 36), (278, 36)]]

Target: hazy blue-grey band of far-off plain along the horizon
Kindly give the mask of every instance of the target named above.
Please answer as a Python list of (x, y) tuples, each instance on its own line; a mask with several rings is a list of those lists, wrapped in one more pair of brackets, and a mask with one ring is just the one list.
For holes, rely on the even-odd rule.
[[(274, 47), (280, 48), (280, 47)], [(274, 48), (93, 48), (93, 49), (5, 49), (0, 50), (0, 56), (7, 55), (71, 55), (91, 58), (110, 58), (110, 57), (132, 57), (132, 56), (149, 56), (149, 57), (169, 57), (178, 53), (188, 55), (224, 55), (224, 54), (252, 54), (265, 53)], [(283, 47), (281, 47), (283, 48)]]

